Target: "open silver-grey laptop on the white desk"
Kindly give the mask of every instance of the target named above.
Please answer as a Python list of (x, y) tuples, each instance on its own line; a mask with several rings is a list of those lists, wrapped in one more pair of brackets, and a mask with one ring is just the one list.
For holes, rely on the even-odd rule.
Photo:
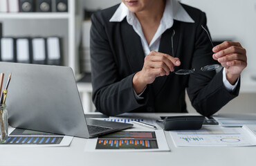
[(85, 118), (73, 71), (67, 66), (0, 62), (12, 127), (93, 138), (133, 124)]

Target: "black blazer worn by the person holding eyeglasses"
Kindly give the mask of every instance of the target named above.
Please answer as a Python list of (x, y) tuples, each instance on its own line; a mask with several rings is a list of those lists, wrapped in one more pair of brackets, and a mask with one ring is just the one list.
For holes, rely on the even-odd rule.
[[(192, 106), (203, 116), (210, 116), (235, 98), (239, 84), (229, 93), (222, 81), (222, 71), (200, 71), (201, 66), (213, 64), (212, 46), (201, 28), (206, 26), (205, 13), (182, 5), (195, 23), (174, 20), (172, 28), (161, 37), (159, 52), (172, 55), (171, 37), (174, 35), (174, 55), (181, 59), (179, 68), (196, 68), (191, 75), (157, 77), (148, 84), (143, 100), (136, 100), (132, 79), (143, 68), (144, 52), (140, 37), (126, 18), (109, 22), (119, 5), (96, 12), (91, 26), (91, 74), (93, 103), (98, 111), (114, 116), (126, 112), (185, 113), (185, 89)], [(216, 62), (215, 62), (216, 63)]]

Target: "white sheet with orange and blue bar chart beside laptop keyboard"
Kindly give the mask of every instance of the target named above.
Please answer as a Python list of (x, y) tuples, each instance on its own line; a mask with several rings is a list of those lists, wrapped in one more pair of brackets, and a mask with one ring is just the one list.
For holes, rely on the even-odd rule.
[(126, 130), (88, 139), (84, 151), (170, 151), (163, 130)]

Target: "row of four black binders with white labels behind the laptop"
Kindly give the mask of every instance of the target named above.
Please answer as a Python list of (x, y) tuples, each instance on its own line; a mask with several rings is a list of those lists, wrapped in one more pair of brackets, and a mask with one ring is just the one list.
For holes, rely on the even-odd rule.
[(2, 37), (0, 43), (3, 62), (63, 65), (60, 37)]

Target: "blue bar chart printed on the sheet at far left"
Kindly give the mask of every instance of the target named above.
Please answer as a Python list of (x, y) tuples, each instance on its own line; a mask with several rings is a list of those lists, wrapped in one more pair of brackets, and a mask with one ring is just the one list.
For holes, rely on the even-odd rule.
[(5, 144), (12, 145), (48, 145), (60, 144), (63, 136), (60, 137), (44, 137), (44, 136), (9, 136)]

